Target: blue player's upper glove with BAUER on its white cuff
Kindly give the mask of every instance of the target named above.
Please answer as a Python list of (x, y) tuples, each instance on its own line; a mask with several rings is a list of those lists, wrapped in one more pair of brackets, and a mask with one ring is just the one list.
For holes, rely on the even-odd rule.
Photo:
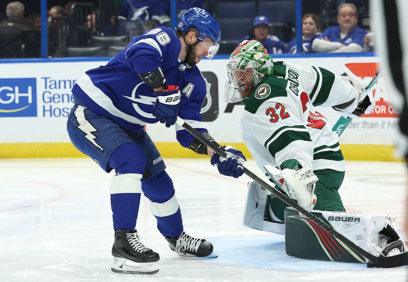
[(175, 124), (179, 115), (181, 93), (179, 86), (169, 85), (163, 91), (155, 92), (157, 97), (153, 115), (166, 127)]

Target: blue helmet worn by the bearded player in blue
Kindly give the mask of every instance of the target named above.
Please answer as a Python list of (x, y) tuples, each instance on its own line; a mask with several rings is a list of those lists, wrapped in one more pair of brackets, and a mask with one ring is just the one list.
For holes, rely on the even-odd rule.
[(177, 21), (175, 29), (186, 32), (191, 27), (198, 30), (198, 40), (200, 42), (204, 41), (207, 37), (216, 44), (220, 41), (220, 26), (215, 18), (204, 9), (194, 7), (184, 11)]

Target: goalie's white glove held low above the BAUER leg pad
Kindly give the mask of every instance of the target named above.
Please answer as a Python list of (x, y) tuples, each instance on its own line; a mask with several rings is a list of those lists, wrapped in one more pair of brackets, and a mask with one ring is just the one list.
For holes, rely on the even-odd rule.
[[(301, 159), (297, 159), (297, 170), (284, 169), (282, 171), (266, 165), (266, 172), (277, 182), (282, 184), (282, 190), (290, 198), (297, 201), (298, 205), (310, 212), (316, 204), (316, 182), (319, 180), (313, 170)], [(283, 182), (282, 182), (282, 180)]]

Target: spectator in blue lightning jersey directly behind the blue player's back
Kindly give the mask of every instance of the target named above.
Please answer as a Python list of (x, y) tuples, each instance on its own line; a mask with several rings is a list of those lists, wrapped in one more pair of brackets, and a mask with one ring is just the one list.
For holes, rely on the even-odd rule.
[(166, 25), (170, 18), (164, 14), (161, 0), (124, 0), (119, 12), (119, 19), (157, 20), (160, 25)]

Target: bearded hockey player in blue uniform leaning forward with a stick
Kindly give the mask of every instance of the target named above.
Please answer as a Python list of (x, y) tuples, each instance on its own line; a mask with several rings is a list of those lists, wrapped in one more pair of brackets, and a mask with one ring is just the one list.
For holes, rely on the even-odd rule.
[[(106, 172), (116, 172), (110, 186), (114, 272), (159, 271), (159, 254), (141, 243), (135, 229), (142, 192), (173, 251), (215, 256), (211, 243), (184, 232), (173, 183), (143, 125), (160, 121), (170, 127), (180, 116), (211, 139), (200, 115), (206, 84), (195, 64), (203, 56), (212, 58), (219, 40), (217, 21), (206, 10), (191, 8), (179, 18), (175, 32), (158, 27), (133, 38), (105, 66), (85, 72), (72, 88), (75, 105), (67, 123), (72, 143)], [(181, 95), (185, 87), (193, 88), (189, 95)], [(225, 159), (181, 127), (176, 127), (176, 137), (182, 146), (210, 155), (221, 174), (243, 174), (245, 157), (240, 151), (222, 147), (228, 154)]]

